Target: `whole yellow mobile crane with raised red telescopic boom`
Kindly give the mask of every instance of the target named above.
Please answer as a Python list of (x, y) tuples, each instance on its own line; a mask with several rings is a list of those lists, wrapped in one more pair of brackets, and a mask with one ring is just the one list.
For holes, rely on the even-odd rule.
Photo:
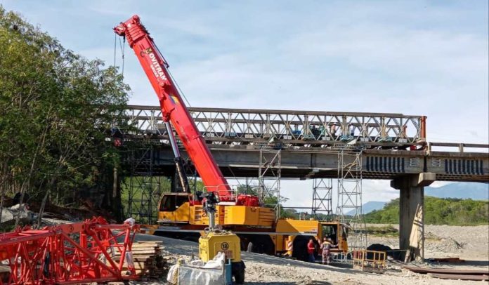
[[(339, 244), (338, 251), (346, 251), (345, 225), (318, 220), (276, 220), (275, 211), (261, 206), (258, 197), (239, 194), (232, 190), (185, 107), (169, 74), (167, 61), (141, 24), (138, 15), (133, 15), (126, 22), (120, 23), (114, 31), (126, 38), (157, 93), (169, 142), (174, 152), (176, 172), (183, 187), (183, 192), (162, 195), (159, 201), (159, 225), (147, 225), (149, 233), (172, 232), (175, 234), (174, 237), (185, 238), (192, 234), (200, 236), (202, 230), (215, 221), (218, 227), (233, 230), (238, 234), (241, 238), (241, 248), (247, 248), (251, 242), (259, 252), (288, 253), (289, 256), (301, 258), (305, 250), (302, 243), (307, 237), (322, 240), (323, 236), (328, 235)], [(183, 159), (171, 125), (174, 126), (183, 147), (193, 161), (205, 189), (217, 197), (211, 217), (207, 215), (208, 207), (202, 205), (202, 199), (190, 193), (183, 173)], [(205, 202), (204, 199), (204, 204)]]

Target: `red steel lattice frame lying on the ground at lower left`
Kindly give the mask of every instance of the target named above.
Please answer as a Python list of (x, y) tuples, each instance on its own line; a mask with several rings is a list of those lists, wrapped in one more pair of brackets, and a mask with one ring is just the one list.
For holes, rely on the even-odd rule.
[[(0, 284), (80, 284), (137, 279), (131, 246), (137, 225), (101, 217), (0, 234)], [(115, 256), (120, 256), (115, 260)], [(127, 260), (126, 260), (127, 258)]]

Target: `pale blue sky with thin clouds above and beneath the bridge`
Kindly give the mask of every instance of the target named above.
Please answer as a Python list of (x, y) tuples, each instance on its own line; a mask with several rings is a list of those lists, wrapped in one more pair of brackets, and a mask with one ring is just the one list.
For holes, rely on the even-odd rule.
[[(195, 107), (426, 115), (431, 141), (488, 143), (488, 1), (1, 3), (109, 65), (112, 27), (137, 13)], [(124, 75), (131, 103), (157, 105), (129, 48)], [(306, 184), (285, 196), (311, 204)], [(365, 181), (365, 201), (388, 189)]]

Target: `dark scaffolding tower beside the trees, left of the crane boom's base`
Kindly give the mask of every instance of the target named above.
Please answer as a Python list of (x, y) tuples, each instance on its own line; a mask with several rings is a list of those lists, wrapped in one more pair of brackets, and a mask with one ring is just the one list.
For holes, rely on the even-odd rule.
[(155, 146), (152, 144), (130, 150), (129, 183), (126, 183), (128, 191), (128, 209), (126, 215), (138, 221), (138, 223), (156, 223), (157, 206), (161, 190), (161, 175), (155, 175)]

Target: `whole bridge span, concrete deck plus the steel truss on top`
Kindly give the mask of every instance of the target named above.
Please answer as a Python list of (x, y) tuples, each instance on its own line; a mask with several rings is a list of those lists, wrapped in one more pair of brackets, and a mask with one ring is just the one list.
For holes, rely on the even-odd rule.
[[(260, 150), (280, 150), (282, 178), (337, 178), (338, 152), (348, 145), (362, 151), (365, 179), (431, 172), (436, 180), (489, 182), (488, 152), (467, 152), (489, 146), (427, 143), (424, 116), (201, 107), (189, 111), (228, 177), (256, 177)], [(116, 129), (124, 147), (132, 145), (133, 159), (126, 159), (126, 168), (137, 172), (151, 164), (153, 174), (171, 175), (173, 154), (159, 107), (128, 106), (124, 115), (131, 127)], [(184, 150), (182, 154), (186, 157)]]

